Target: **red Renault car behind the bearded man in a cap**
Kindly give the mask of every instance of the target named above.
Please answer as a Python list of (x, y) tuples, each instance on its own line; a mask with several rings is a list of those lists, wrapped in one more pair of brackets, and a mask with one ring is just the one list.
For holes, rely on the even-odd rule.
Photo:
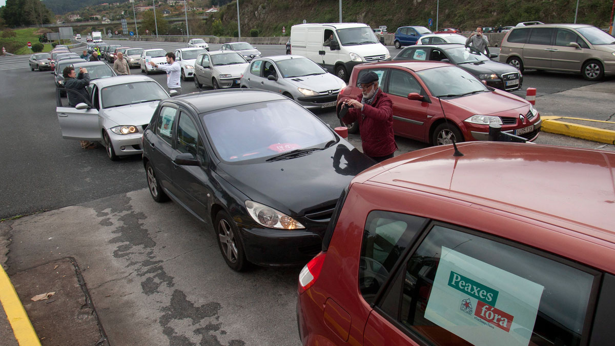
[[(490, 124), (499, 124), (502, 131), (529, 141), (540, 132), (542, 121), (530, 102), (485, 86), (472, 74), (446, 62), (357, 65), (348, 86), (338, 95), (338, 114), (344, 100), (360, 95), (357, 80), (368, 71), (378, 74), (378, 85), (393, 101), (395, 135), (442, 145), (453, 139), (487, 140)], [(357, 123), (348, 127), (351, 133), (359, 131)]]

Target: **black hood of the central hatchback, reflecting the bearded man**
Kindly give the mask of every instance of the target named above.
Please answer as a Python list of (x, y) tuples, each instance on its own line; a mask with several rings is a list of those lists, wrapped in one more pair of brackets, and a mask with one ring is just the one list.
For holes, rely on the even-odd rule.
[[(338, 159), (339, 158), (339, 159)], [(335, 204), (352, 178), (375, 162), (346, 140), (300, 158), (218, 165), (220, 174), (252, 201), (290, 216)]]

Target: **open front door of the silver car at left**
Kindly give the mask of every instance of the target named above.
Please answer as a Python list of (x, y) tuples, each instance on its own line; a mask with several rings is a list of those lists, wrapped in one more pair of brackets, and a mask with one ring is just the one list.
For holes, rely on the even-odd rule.
[[(60, 97), (60, 91), (65, 91), (66, 95), (72, 93), (82, 100), (88, 108), (77, 109), (68, 105), (68, 97), (66, 100), (62, 100)], [(97, 89), (94, 88), (94, 92)], [(102, 132), (100, 131), (98, 110), (92, 107), (92, 102), (85, 99), (81, 94), (71, 89), (57, 88), (56, 92), (57, 107), (55, 107), (55, 113), (58, 116), (58, 123), (60, 123), (60, 129), (62, 129), (63, 139), (79, 139), (100, 141), (103, 139)], [(62, 103), (65, 103), (64, 105)]]

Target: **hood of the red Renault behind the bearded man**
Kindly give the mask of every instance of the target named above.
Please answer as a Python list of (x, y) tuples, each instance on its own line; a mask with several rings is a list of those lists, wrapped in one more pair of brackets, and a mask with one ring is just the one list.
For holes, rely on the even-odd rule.
[(490, 115), (520, 107), (529, 107), (528, 105), (530, 104), (515, 95), (510, 94), (509, 96), (496, 91), (483, 92), (482, 94), (468, 95), (446, 101), (477, 115)]

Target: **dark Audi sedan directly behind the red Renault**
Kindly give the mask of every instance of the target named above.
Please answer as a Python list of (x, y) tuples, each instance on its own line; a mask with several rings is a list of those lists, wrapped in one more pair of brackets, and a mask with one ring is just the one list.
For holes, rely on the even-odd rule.
[(523, 74), (514, 66), (496, 62), (482, 52), (458, 43), (429, 44), (404, 48), (393, 60), (432, 60), (450, 62), (474, 74), (487, 86), (503, 91), (521, 89)]

